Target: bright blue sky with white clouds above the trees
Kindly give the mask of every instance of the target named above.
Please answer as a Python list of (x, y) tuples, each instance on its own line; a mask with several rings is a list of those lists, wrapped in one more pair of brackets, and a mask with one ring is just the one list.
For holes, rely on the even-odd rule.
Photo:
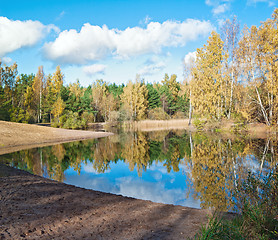
[(237, 16), (240, 27), (271, 18), (278, 0), (1, 1), (0, 58), (19, 73), (46, 75), (57, 65), (64, 83), (88, 86), (184, 80), (184, 64), (211, 31)]

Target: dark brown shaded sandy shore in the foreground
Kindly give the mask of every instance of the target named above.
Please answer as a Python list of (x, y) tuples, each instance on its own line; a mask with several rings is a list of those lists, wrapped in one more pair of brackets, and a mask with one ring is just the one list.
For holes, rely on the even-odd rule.
[(0, 239), (187, 239), (207, 212), (86, 190), (0, 165)]

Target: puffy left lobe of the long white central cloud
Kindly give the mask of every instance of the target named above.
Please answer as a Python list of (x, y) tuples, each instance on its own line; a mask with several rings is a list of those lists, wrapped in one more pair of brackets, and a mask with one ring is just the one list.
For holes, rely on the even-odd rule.
[(54, 42), (45, 44), (46, 57), (61, 63), (86, 63), (99, 60), (115, 46), (115, 32), (105, 25), (84, 24), (78, 33), (75, 29), (61, 32)]

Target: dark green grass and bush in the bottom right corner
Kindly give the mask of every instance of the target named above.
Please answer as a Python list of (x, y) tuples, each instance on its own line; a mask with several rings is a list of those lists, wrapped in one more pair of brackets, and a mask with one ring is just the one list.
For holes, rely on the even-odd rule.
[(235, 192), (238, 215), (232, 220), (213, 216), (196, 240), (278, 239), (278, 171), (260, 179), (249, 173)]

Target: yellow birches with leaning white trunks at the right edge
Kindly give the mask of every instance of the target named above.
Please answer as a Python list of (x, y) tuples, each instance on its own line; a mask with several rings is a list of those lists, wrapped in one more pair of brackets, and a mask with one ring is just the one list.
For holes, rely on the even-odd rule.
[(248, 86), (248, 104), (251, 118), (267, 125), (277, 123), (277, 25), (278, 9), (272, 19), (257, 28), (245, 28), (239, 42), (242, 81)]

